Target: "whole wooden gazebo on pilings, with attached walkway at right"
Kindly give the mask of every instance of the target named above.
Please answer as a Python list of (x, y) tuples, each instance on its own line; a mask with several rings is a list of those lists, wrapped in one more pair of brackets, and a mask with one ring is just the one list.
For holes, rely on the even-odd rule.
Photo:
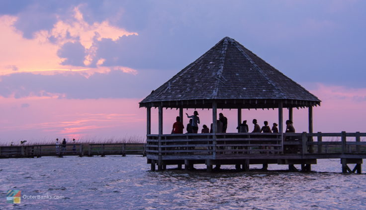
[[(343, 173), (361, 173), (366, 158), (366, 142), (361, 137), (366, 133), (314, 133), (313, 108), (320, 103), (316, 96), (252, 51), (225, 37), (139, 103), (147, 109), (147, 162), (152, 171), (156, 166), (164, 170), (167, 165), (177, 165), (179, 169), (184, 165), (190, 170), (194, 164), (205, 164), (209, 172), (214, 165), (216, 169), (233, 165), (237, 170), (248, 171), (251, 164), (262, 164), (263, 169), (268, 164), (281, 164), (288, 165), (290, 171), (309, 172), (317, 159), (337, 158)], [(151, 132), (152, 108), (158, 108), (157, 134)], [(164, 133), (164, 108), (176, 109), (182, 123), (183, 109), (212, 110), (212, 120), (206, 122), (208, 127), (212, 123), (210, 133)], [(301, 120), (306, 120), (308, 132), (296, 133), (283, 124), (284, 110), (292, 124), (294, 108), (308, 110), (307, 119)], [(218, 126), (219, 109), (237, 109), (238, 123), (228, 125), (235, 127), (245, 119), (245, 111), (277, 110), (278, 133), (222, 132)], [(247, 120), (250, 123), (252, 119)], [(329, 137), (339, 140), (330, 141)], [(295, 167), (297, 164), (300, 169)], [(351, 169), (348, 164), (356, 166)]]

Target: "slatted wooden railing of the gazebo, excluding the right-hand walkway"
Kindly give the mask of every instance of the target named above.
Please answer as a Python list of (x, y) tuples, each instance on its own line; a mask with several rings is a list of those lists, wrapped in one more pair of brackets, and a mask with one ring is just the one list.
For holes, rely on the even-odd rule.
[[(146, 153), (152, 156), (224, 158), (250, 154), (279, 154), (282, 135), (274, 133), (203, 133), (147, 135)], [(204, 157), (203, 157), (204, 156)]]

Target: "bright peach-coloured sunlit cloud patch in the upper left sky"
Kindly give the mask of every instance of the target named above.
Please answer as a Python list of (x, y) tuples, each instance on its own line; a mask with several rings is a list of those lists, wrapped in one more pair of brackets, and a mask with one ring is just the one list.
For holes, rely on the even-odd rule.
[[(116, 41), (122, 36), (138, 35), (118, 28), (108, 20), (89, 24), (83, 18), (79, 7), (74, 8), (74, 16), (69, 19), (59, 20), (51, 30), (41, 30), (34, 34), (32, 39), (22, 36), (16, 30), (14, 23), (16, 16), (0, 16), (0, 75), (32, 72), (35, 74), (56, 74), (60, 72), (83, 72), (90, 76), (94, 72), (105, 73), (110, 69), (120, 70), (125, 73), (137, 74), (137, 71), (128, 67), (101, 66), (104, 59), (95, 61), (96, 41), (103, 38)], [(80, 42), (85, 48), (85, 66), (62, 65), (65, 58), (57, 55), (58, 50), (65, 43)]]

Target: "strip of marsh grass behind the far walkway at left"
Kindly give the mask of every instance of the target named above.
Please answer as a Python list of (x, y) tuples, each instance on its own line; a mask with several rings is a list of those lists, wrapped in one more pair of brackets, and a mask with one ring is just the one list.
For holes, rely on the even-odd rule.
[[(62, 143), (64, 138), (59, 137), (59, 143)], [(73, 138), (65, 138), (67, 144), (74, 144)], [(21, 144), (22, 141), (26, 141)], [(110, 137), (110, 138), (98, 138), (98, 137), (85, 137), (75, 138), (75, 144), (119, 144), (119, 143), (146, 143), (146, 136), (140, 135), (126, 135), (124, 137)], [(32, 145), (56, 145), (56, 138), (43, 138), (43, 139), (18, 139), (18, 140), (3, 140), (0, 139), (0, 146), (32, 146)]]

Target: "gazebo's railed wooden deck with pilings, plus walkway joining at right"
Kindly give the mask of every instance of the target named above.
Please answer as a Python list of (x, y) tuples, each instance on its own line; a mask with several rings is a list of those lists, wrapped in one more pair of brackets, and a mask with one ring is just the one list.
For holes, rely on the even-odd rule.
[[(330, 137), (331, 141), (323, 141)], [(247, 171), (250, 164), (286, 164), (290, 171), (311, 171), (317, 159), (339, 158), (343, 173), (361, 173), (366, 158), (366, 133), (205, 133), (205, 134), (149, 134), (146, 153), (151, 170), (166, 169), (167, 165), (189, 170), (194, 164), (235, 165)], [(347, 164), (356, 164), (350, 169)]]

